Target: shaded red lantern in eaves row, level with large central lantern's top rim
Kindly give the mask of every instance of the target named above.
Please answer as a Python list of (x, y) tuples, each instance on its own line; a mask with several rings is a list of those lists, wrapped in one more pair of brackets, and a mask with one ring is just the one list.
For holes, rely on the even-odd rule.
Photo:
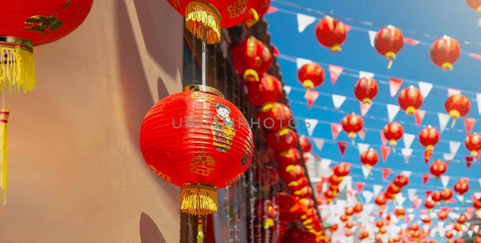
[(276, 77), (263, 74), (259, 82), (249, 82), (249, 101), (254, 106), (262, 106), (266, 102), (277, 102), (283, 94), (282, 84)]

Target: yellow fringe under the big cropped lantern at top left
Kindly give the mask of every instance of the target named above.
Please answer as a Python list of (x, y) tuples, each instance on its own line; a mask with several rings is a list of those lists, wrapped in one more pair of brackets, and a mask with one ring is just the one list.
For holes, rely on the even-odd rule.
[(0, 41), (0, 88), (11, 93), (35, 89), (33, 49), (19, 43)]

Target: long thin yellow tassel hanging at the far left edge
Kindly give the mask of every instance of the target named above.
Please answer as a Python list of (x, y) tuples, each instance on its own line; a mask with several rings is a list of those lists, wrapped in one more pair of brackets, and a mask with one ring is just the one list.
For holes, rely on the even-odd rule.
[(2, 204), (7, 204), (7, 123), (10, 112), (0, 111), (0, 188)]

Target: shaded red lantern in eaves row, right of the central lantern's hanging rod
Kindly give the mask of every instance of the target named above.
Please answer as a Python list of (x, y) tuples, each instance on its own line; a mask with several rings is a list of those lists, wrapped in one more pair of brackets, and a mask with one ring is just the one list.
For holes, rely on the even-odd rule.
[(259, 76), (269, 70), (272, 55), (260, 40), (249, 37), (232, 50), (234, 67), (247, 82), (259, 81)]

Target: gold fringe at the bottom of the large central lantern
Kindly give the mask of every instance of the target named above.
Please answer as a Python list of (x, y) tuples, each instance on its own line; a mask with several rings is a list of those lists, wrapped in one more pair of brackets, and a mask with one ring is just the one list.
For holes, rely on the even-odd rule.
[(184, 184), (180, 191), (182, 213), (205, 216), (217, 211), (217, 188), (202, 183)]

